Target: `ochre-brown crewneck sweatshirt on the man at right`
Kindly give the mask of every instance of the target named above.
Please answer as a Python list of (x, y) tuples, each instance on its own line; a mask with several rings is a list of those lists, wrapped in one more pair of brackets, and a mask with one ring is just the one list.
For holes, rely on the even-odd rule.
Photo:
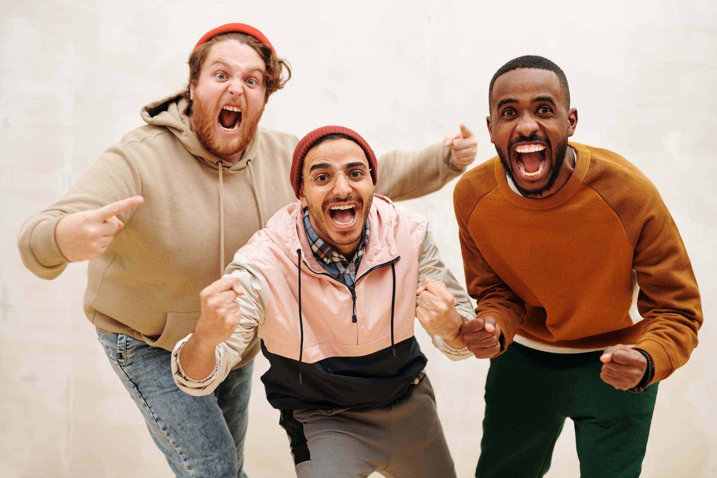
[(498, 321), (501, 353), (516, 334), (564, 348), (636, 344), (655, 363), (653, 381), (663, 380), (688, 360), (702, 324), (680, 233), (640, 170), (612, 151), (569, 144), (575, 169), (552, 196), (513, 192), (497, 156), (457, 183), (468, 293), (479, 317)]

